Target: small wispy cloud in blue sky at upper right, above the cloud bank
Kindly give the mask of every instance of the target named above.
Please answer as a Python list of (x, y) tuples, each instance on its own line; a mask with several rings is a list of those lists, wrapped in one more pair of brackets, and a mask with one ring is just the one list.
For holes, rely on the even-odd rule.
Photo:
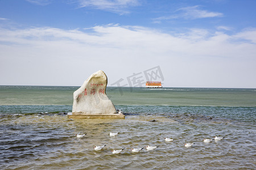
[(213, 18), (222, 17), (220, 12), (212, 12), (207, 10), (201, 10), (200, 6), (183, 7), (174, 11), (174, 14), (168, 16), (160, 16), (153, 19), (155, 23), (159, 23), (161, 20), (171, 19), (201, 19), (201, 18)]

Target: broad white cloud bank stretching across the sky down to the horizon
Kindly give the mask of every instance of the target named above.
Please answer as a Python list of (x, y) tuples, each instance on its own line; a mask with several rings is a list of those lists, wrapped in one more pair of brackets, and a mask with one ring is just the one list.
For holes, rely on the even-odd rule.
[(112, 84), (159, 65), (165, 86), (255, 88), (255, 33), (175, 35), (118, 24), (0, 29), (0, 84), (80, 86), (100, 69)]

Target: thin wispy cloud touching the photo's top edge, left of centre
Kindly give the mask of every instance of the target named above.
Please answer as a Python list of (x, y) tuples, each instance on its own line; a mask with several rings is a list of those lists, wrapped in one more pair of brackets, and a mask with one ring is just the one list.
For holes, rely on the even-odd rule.
[(128, 8), (138, 6), (138, 0), (79, 0), (79, 7), (92, 7), (118, 14), (129, 13)]

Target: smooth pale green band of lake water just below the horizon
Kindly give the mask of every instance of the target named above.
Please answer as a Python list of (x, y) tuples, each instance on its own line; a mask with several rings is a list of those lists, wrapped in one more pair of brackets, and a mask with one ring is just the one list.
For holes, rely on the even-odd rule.
[[(0, 86), (0, 105), (72, 105), (79, 87)], [(114, 105), (256, 107), (256, 89), (108, 87)]]

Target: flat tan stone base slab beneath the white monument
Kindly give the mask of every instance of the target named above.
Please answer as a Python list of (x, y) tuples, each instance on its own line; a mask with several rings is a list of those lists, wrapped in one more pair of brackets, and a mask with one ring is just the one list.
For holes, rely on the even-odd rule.
[(68, 113), (68, 118), (125, 118), (125, 114), (112, 113), (112, 114), (76, 114)]

